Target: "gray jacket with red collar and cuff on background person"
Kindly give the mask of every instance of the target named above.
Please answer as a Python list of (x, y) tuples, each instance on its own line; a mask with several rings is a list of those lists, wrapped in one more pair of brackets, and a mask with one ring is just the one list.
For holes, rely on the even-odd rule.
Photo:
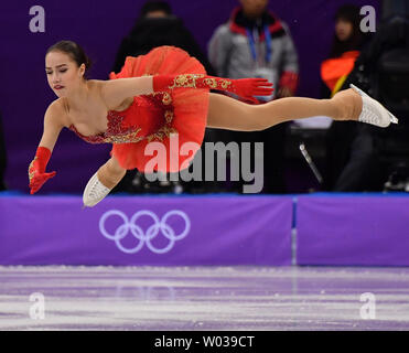
[[(287, 24), (267, 11), (262, 23), (258, 23), (259, 28), (260, 24), (267, 25), (271, 36), (271, 57), (266, 62), (266, 35), (257, 26), (246, 26), (240, 11), (240, 8), (235, 9), (230, 20), (216, 29), (208, 43), (209, 61), (217, 75), (229, 78), (257, 77), (260, 76), (259, 68), (267, 67), (275, 77), (276, 92), (280, 86), (287, 86), (294, 93), (299, 76), (298, 54)], [(254, 34), (257, 60), (250, 49), (247, 28)]]

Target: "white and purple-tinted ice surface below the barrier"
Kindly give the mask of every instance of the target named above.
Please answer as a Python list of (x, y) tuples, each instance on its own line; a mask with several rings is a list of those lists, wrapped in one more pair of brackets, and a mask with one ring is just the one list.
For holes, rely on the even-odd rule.
[(0, 267), (0, 330), (409, 330), (409, 268)]

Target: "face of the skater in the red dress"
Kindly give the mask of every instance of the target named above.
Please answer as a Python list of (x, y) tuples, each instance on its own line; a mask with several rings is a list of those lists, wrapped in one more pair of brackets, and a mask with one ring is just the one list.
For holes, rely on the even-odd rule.
[(78, 67), (68, 54), (53, 51), (45, 56), (45, 73), (51, 89), (64, 97), (84, 82), (85, 64)]

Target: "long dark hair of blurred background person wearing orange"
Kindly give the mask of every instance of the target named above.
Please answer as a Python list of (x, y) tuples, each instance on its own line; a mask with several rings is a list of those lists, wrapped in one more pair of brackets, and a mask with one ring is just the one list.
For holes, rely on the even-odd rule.
[(341, 56), (347, 51), (360, 50), (365, 35), (359, 28), (359, 7), (355, 4), (344, 4), (336, 11), (335, 21), (343, 20), (352, 23), (353, 32), (351, 34), (351, 38), (346, 41), (340, 41), (336, 34), (334, 34), (330, 57)]

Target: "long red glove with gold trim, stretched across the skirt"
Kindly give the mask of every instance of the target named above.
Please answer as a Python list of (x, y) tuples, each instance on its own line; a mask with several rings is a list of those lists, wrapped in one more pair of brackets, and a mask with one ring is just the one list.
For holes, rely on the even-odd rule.
[(246, 100), (258, 103), (254, 96), (270, 96), (275, 90), (266, 78), (227, 79), (206, 75), (158, 75), (153, 76), (153, 90), (173, 88), (209, 88), (234, 93)]

